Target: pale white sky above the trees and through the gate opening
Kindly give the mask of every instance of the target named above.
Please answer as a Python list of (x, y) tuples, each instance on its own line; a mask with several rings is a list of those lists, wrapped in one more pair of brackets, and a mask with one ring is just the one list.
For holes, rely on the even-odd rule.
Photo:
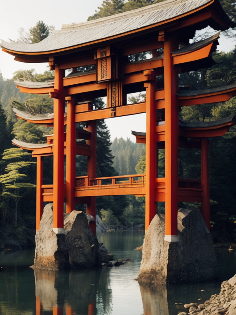
[[(55, 26), (56, 30), (61, 29), (62, 24), (73, 22), (84, 22), (89, 15), (95, 13), (103, 0), (0, 0), (0, 39), (8, 41), (8, 38), (16, 40), (19, 37), (18, 30), (23, 27), (28, 31), (35, 26), (38, 20), (43, 20), (47, 25)], [(229, 51), (234, 48), (236, 42), (232, 39), (220, 38), (218, 50)], [(35, 69), (42, 73), (48, 64), (28, 64), (14, 61), (14, 56), (0, 50), (0, 71), (3, 78), (10, 79), (14, 71), (19, 69)], [(107, 120), (110, 128), (111, 139), (116, 136), (130, 137), (131, 130), (146, 131), (145, 115), (134, 115), (127, 117), (112, 118)]]

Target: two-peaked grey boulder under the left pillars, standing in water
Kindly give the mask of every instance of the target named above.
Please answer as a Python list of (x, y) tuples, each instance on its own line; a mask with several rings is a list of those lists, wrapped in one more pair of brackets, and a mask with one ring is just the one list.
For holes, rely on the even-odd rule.
[(89, 228), (92, 216), (81, 211), (64, 214), (65, 234), (53, 232), (53, 204), (43, 210), (39, 231), (36, 232), (36, 249), (32, 267), (58, 270), (93, 268), (100, 264), (97, 237)]

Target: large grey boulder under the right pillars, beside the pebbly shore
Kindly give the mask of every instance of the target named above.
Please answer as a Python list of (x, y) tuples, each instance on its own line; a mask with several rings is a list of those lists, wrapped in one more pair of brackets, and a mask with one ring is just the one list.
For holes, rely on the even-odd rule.
[(165, 215), (153, 218), (143, 243), (140, 283), (187, 283), (216, 277), (211, 235), (199, 209), (178, 211), (178, 242), (166, 242)]

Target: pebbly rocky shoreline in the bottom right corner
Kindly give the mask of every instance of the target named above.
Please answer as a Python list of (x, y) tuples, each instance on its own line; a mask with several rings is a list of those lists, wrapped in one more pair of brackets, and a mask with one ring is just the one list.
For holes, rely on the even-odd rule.
[(211, 295), (203, 304), (185, 304), (186, 312), (178, 315), (236, 315), (236, 275), (221, 284), (219, 294)]

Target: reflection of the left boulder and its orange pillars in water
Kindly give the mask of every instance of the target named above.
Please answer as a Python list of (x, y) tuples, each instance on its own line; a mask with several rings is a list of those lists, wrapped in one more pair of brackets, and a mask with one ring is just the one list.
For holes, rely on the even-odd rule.
[(45, 311), (53, 315), (96, 315), (97, 295), (104, 311), (110, 308), (112, 296), (109, 279), (100, 281), (99, 270), (35, 269), (34, 274), (36, 315), (42, 315)]

